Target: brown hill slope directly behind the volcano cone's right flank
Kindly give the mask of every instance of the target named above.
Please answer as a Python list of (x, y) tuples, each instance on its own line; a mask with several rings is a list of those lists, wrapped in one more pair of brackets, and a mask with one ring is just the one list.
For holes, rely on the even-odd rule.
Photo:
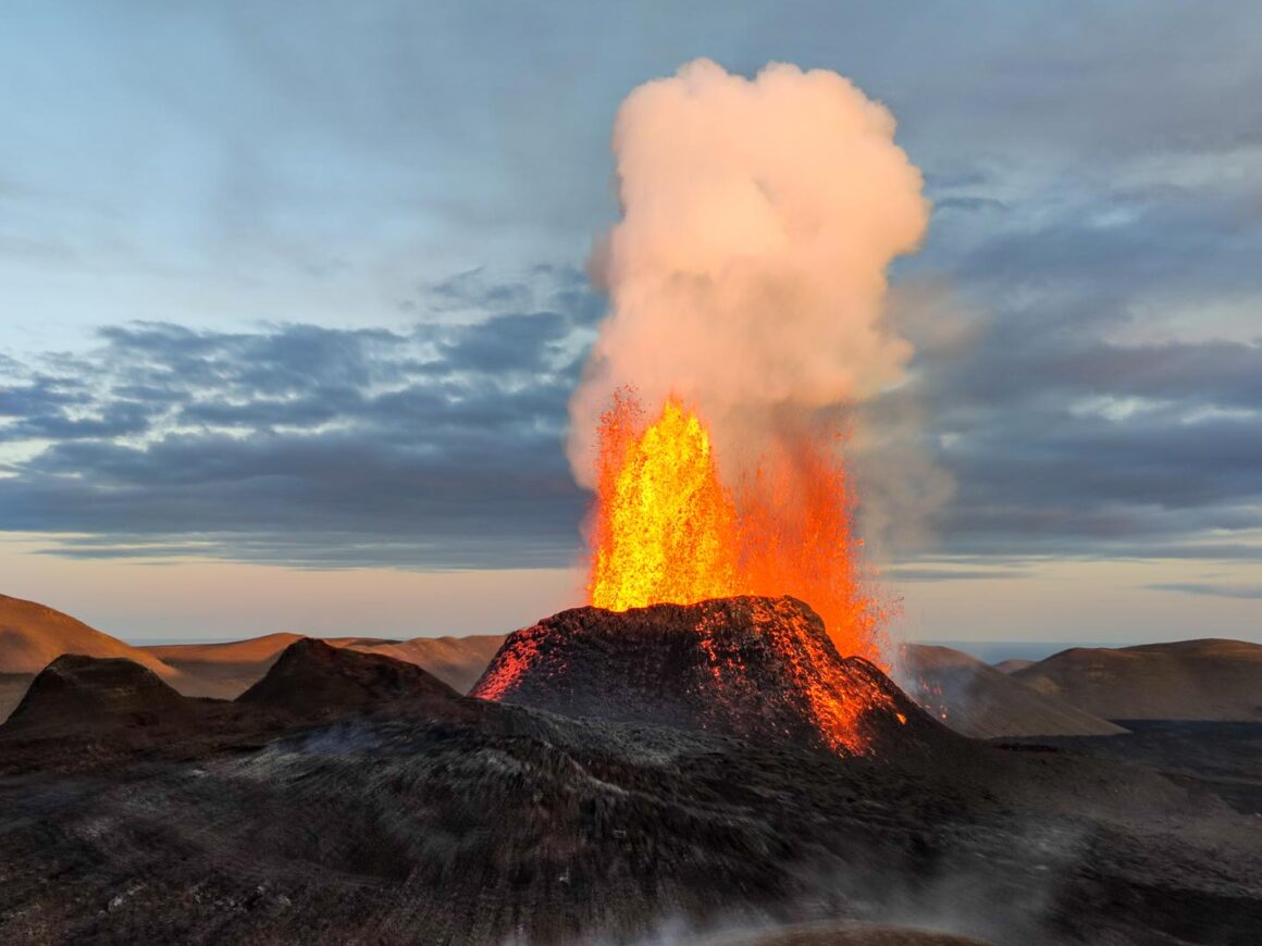
[(909, 643), (902, 681), (907, 692), (946, 725), (978, 739), (1126, 732), (950, 647)]

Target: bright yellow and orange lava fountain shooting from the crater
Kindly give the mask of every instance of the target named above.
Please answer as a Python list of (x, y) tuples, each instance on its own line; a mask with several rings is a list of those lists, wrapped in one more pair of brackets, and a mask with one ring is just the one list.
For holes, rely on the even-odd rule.
[(601, 423), (591, 603), (611, 610), (740, 594), (799, 598), (843, 655), (881, 667), (885, 614), (862, 587), (853, 497), (827, 447), (799, 438), (737, 491), (702, 420), (669, 399), (649, 425), (620, 392)]

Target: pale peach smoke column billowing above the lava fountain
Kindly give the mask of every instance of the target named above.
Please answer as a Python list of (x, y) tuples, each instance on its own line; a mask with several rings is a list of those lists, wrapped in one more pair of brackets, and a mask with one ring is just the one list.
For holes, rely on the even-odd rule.
[(848, 79), (785, 63), (751, 81), (697, 59), (627, 96), (622, 218), (591, 260), (611, 310), (570, 401), (579, 483), (594, 483), (599, 415), (623, 385), (650, 409), (694, 405), (738, 474), (785, 418), (902, 378), (911, 346), (883, 322), (886, 269), (916, 247), (929, 203), (893, 132)]

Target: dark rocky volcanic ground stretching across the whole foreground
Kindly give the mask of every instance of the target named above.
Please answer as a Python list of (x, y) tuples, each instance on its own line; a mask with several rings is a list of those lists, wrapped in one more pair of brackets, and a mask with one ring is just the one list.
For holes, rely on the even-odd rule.
[(852, 756), (459, 698), (309, 642), (187, 713), (117, 670), (74, 677), (112, 690), (93, 727), (42, 675), (44, 725), (0, 728), (0, 941), (1262, 936), (1262, 819), (1142, 733), (1123, 758), (940, 727)]

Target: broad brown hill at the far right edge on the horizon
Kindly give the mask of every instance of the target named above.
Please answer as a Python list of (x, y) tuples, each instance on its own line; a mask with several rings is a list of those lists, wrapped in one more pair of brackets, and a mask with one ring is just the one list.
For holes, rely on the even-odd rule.
[(1012, 674), (1104, 719), (1262, 719), (1262, 645), (1075, 647)]

